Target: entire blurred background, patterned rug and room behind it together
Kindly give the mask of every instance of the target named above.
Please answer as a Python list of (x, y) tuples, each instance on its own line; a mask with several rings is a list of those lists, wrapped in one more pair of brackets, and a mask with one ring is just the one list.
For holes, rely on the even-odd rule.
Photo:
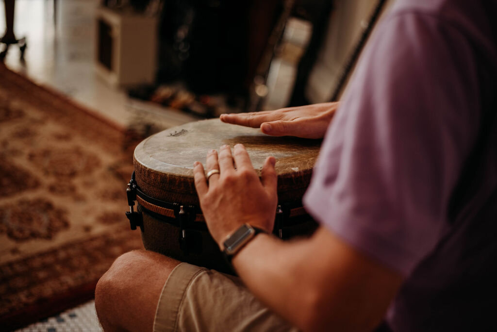
[(55, 332), (99, 331), (97, 280), (143, 248), (137, 143), (338, 100), (393, 0), (1, 2), (0, 331)]

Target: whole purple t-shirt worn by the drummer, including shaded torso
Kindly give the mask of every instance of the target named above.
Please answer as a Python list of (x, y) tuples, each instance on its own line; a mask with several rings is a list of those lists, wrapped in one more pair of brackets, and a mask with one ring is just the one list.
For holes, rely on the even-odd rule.
[(398, 0), (304, 202), (406, 277), (394, 331), (497, 331), (497, 1)]

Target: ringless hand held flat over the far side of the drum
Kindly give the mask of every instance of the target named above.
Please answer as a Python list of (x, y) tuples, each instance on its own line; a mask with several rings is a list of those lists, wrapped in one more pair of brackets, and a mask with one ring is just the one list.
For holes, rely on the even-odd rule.
[(274, 111), (222, 114), (221, 121), (259, 128), (271, 136), (323, 138), (338, 102), (281, 108)]

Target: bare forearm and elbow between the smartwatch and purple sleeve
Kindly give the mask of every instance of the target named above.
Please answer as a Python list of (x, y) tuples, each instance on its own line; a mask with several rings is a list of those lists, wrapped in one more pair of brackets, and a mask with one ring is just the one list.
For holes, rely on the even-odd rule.
[(304, 331), (371, 331), (402, 283), (322, 228), (301, 241), (259, 235), (233, 264), (259, 300)]

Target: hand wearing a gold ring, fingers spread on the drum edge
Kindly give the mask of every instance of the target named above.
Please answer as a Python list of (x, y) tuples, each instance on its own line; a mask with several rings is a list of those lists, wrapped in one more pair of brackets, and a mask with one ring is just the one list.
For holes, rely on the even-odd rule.
[(232, 155), (230, 147), (224, 145), (219, 158), (216, 150), (207, 155), (206, 171), (220, 170), (207, 182), (204, 167), (195, 162), (193, 174), (200, 207), (221, 249), (226, 238), (245, 223), (272, 231), (278, 201), (274, 164), (274, 157), (266, 159), (259, 180), (245, 147), (235, 145)]

